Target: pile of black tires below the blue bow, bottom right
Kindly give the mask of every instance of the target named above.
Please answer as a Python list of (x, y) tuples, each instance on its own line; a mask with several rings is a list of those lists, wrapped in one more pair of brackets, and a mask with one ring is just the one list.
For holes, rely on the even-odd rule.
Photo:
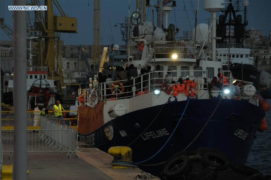
[(172, 156), (161, 173), (162, 180), (270, 180), (256, 169), (229, 163), (218, 150), (200, 147)]

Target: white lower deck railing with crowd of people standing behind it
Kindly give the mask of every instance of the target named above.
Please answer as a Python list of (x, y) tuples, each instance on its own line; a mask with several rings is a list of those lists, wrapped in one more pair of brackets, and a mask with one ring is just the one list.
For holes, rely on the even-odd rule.
[[(100, 100), (115, 100), (115, 99), (125, 99), (125, 98), (131, 98), (135, 97), (144, 93), (149, 93), (155, 90), (160, 90), (160, 87), (162, 84), (167, 83), (166, 80), (169, 80), (170, 83), (168, 83), (169, 86), (172, 86), (176, 82), (178, 82), (179, 78), (182, 78), (182, 81), (189, 78), (189, 80), (194, 80), (196, 84), (196, 90), (203, 90), (207, 91), (208, 81), (204, 81), (203, 78), (207, 77), (194, 77), (194, 76), (188, 76), (188, 73), (191, 72), (199, 72), (202, 70), (184, 70), (184, 71), (152, 71), (143, 75), (139, 75), (133, 79), (129, 80), (120, 80), (117, 82), (121, 82), (123, 84), (123, 87), (115, 88), (106, 85), (106, 84), (113, 84), (116, 81), (108, 81), (105, 83), (99, 84), (99, 99)], [(165, 76), (159, 76), (158, 74), (166, 74), (167, 72), (181, 72), (183, 73), (183, 76), (177, 77), (165, 77)], [(202, 73), (204, 74), (204, 73)], [(207, 73), (208, 74), (208, 73)], [(187, 75), (187, 76), (185, 76)], [(137, 79), (137, 80), (136, 80)], [(200, 81), (199, 81), (200, 80)], [(138, 81), (138, 82), (137, 82)], [(175, 83), (172, 83), (172, 81), (175, 81)], [(199, 83), (200, 82), (200, 83)], [(124, 92), (121, 92), (121, 88), (124, 88)], [(113, 91), (113, 93), (111, 93)], [(172, 91), (173, 93), (173, 91)]]

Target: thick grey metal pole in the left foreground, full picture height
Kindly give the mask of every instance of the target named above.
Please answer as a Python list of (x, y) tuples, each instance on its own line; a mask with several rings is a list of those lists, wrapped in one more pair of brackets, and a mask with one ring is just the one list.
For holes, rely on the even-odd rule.
[[(14, 5), (27, 5), (14, 0)], [(27, 11), (14, 11), (14, 165), (12, 179), (27, 179)]]

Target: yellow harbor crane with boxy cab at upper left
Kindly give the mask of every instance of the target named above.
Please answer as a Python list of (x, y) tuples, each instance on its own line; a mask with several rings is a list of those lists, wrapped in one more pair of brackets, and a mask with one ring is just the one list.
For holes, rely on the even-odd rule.
[[(39, 0), (31, 0), (31, 2), (33, 5), (41, 5)], [(60, 16), (53, 14), (53, 4)], [(45, 0), (44, 5), (47, 6), (47, 11), (44, 14), (43, 11), (35, 11), (37, 22), (34, 23), (34, 26), (40, 32), (39, 64), (41, 66), (48, 66), (48, 78), (54, 77), (59, 92), (61, 91), (61, 86), (64, 84), (64, 79), (60, 35), (58, 33), (77, 33), (77, 19), (75, 17), (67, 17), (57, 0)], [(56, 42), (57, 46), (55, 46)]]

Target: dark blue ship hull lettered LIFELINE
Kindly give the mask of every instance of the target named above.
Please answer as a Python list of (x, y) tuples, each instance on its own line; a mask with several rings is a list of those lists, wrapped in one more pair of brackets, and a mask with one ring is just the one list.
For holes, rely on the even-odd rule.
[[(191, 100), (172, 138), (156, 156), (143, 164), (161, 163), (184, 150), (201, 131), (218, 103), (219, 99)], [(163, 105), (127, 113), (91, 134), (79, 134), (80, 141), (107, 152), (112, 146), (127, 146), (150, 125), (129, 146), (133, 162), (141, 162), (153, 156), (165, 144), (186, 104), (187, 101), (166, 104), (152, 125), (150, 123)], [(230, 162), (245, 164), (263, 117), (265, 113), (258, 106), (240, 100), (222, 99), (206, 128), (187, 151), (209, 147), (225, 153)], [(105, 133), (105, 128), (109, 126), (114, 131), (111, 141)], [(163, 165), (139, 167), (153, 175), (159, 175), (163, 169)]]

